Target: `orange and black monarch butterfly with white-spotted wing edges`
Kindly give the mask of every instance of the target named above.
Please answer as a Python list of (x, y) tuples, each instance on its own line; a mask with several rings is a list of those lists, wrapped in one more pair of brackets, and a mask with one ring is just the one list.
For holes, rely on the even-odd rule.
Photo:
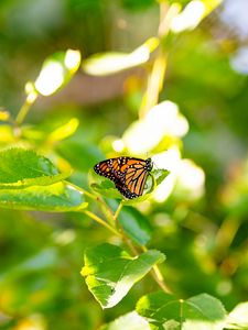
[(143, 194), (152, 165), (151, 158), (117, 157), (96, 164), (94, 170), (112, 180), (126, 198), (132, 199)]

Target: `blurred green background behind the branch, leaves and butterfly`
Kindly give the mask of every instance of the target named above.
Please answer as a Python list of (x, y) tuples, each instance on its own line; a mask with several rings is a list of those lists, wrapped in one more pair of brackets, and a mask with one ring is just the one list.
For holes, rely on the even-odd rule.
[[(1, 147), (21, 143), (62, 168), (71, 164), (72, 179), (87, 189), (88, 170), (105, 157), (154, 156), (172, 176), (137, 206), (153, 229), (149, 246), (165, 253), (162, 272), (177, 296), (206, 292), (227, 310), (248, 299), (247, 11), (245, 0), (224, 1), (168, 43), (160, 101), (168, 101), (169, 124), (150, 150), (151, 136), (142, 140), (133, 123), (151, 63), (101, 77), (79, 69), (57, 94), (37, 99), (21, 141), (0, 125)], [(132, 52), (157, 35), (159, 14), (154, 0), (2, 0), (1, 110), (18, 113), (25, 82), (48, 55), (79, 50), (84, 63), (96, 53)], [(72, 118), (76, 132), (47, 143)], [(103, 311), (79, 274), (86, 246), (115, 240), (82, 215), (0, 210), (0, 329), (98, 329), (132, 310), (158, 289), (149, 278)]]

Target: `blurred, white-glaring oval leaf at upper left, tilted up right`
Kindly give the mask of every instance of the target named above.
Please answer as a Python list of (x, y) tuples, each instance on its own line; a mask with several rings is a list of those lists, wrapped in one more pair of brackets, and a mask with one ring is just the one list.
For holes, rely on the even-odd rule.
[[(50, 96), (64, 87), (76, 73), (80, 65), (80, 53), (68, 50), (58, 52), (47, 57), (42, 66), (41, 73), (33, 84), (36, 92)], [(32, 85), (32, 82), (29, 82)], [(26, 94), (32, 94), (32, 88), (26, 88)]]

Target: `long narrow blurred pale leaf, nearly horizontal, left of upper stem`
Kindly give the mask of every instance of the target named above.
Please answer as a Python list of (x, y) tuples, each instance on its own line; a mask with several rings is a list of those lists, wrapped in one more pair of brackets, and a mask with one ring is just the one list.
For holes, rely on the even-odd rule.
[(93, 76), (112, 75), (148, 62), (150, 53), (152, 53), (158, 45), (159, 40), (151, 37), (131, 53), (109, 52), (96, 54), (84, 61), (83, 69)]

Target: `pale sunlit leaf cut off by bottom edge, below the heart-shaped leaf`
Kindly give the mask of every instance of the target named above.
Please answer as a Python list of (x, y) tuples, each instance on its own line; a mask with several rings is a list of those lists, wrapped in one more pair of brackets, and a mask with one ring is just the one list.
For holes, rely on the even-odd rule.
[(151, 328), (145, 319), (136, 311), (131, 311), (103, 326), (100, 330), (151, 330)]

